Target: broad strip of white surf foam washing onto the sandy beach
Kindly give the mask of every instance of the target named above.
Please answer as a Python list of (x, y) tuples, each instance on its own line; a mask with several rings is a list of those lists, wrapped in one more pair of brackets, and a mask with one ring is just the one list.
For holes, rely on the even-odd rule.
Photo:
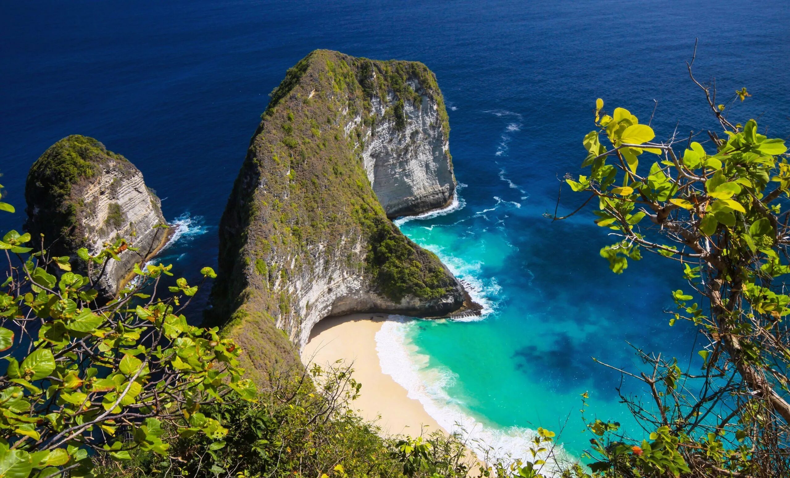
[[(554, 474), (557, 466), (547, 452), (532, 458), (529, 447), (536, 431), (529, 428), (495, 428), (466, 413), (464, 403), (450, 396), (457, 375), (450, 369), (430, 367), (430, 357), (419, 350), (408, 338), (414, 319), (389, 316), (390, 320), (376, 333), (376, 351), (382, 372), (404, 387), (408, 398), (418, 400), (425, 411), (448, 431), (459, 431), (479, 457), (488, 451), (489, 457), (511, 461), (521, 458), (547, 461), (544, 472)], [(534, 445), (532, 445), (534, 446)], [(562, 450), (555, 455), (565, 457)]]

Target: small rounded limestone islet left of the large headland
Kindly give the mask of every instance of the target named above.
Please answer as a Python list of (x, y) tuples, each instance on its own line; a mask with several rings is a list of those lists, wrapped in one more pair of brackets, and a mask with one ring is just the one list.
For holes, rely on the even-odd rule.
[(134, 263), (152, 256), (167, 241), (160, 200), (145, 186), (143, 175), (122, 155), (107, 151), (99, 141), (72, 135), (53, 144), (33, 163), (25, 185), (26, 229), (44, 234), (44, 245), (55, 256), (73, 256), (78, 248), (96, 254), (105, 242), (123, 237), (137, 252), (127, 250), (121, 261), (111, 260), (103, 274), (94, 271), (96, 289), (114, 297)]

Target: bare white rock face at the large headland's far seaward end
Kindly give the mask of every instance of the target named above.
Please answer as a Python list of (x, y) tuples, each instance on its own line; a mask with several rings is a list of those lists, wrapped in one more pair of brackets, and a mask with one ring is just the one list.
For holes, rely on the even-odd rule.
[(408, 85), (421, 94), (422, 104), (404, 102), (406, 126), (398, 131), (393, 118), (383, 118), (393, 95), (389, 105), (374, 99), (377, 121), (363, 149), (367, 178), (390, 218), (445, 207), (455, 193), (450, 142), (442, 131), (438, 104), (418, 80)]

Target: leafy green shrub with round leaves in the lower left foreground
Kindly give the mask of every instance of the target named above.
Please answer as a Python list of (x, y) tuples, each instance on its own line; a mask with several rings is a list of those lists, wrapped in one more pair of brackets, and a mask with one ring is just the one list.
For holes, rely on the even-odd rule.
[[(4, 204), (3, 209), (13, 211)], [(227, 433), (199, 410), (233, 390), (254, 398), (238, 367), (241, 350), (216, 329), (190, 326), (184, 297), (198, 286), (180, 278), (161, 295), (171, 266), (135, 267), (137, 280), (107, 304), (70, 258), (34, 252), (29, 233), (0, 241), (8, 260), (0, 292), (0, 476), (87, 476), (92, 454), (131, 459), (130, 450), (166, 455), (170, 435)], [(123, 240), (97, 256), (96, 267), (133, 249)], [(215, 274), (206, 267), (205, 277)], [(145, 293), (144, 293), (145, 292)], [(164, 428), (163, 428), (164, 427)], [(166, 429), (167, 428), (167, 429)]]

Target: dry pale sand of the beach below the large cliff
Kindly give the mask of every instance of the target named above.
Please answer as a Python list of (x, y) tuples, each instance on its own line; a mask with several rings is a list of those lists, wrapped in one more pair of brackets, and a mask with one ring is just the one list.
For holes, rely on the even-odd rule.
[(376, 420), (389, 435), (419, 435), (423, 426), (427, 427), (426, 432), (444, 430), (419, 401), (408, 398), (406, 390), (382, 372), (375, 335), (386, 319), (385, 314), (323, 319), (310, 334), (302, 361), (320, 365), (333, 364), (340, 359), (353, 362), (354, 377), (362, 383), (362, 389), (360, 397), (352, 402), (352, 408), (358, 409), (363, 418)]

